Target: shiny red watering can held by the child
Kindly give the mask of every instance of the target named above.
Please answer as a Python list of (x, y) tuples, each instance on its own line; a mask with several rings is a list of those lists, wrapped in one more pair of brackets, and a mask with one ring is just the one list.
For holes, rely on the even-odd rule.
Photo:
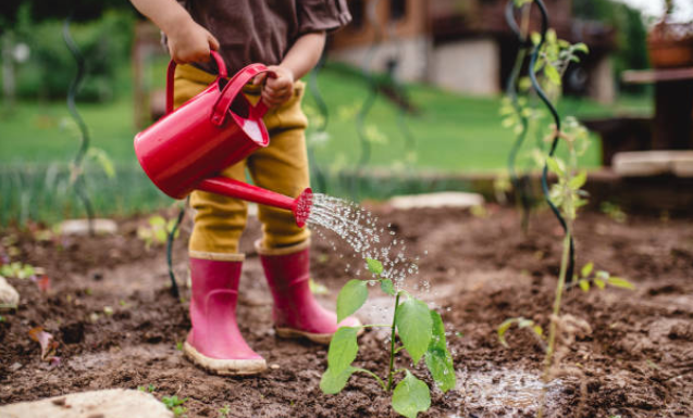
[(135, 154), (147, 176), (164, 193), (183, 199), (203, 190), (292, 211), (299, 227), (306, 225), (312, 205), (310, 188), (296, 199), (243, 181), (219, 176), (255, 150), (270, 143), (262, 116), (268, 109), (260, 100), (252, 106), (242, 94), (255, 76), (268, 72), (251, 64), (226, 81), (226, 65), (212, 51), (219, 76), (209, 87), (173, 111), (173, 75), (166, 77), (166, 115), (135, 136)]

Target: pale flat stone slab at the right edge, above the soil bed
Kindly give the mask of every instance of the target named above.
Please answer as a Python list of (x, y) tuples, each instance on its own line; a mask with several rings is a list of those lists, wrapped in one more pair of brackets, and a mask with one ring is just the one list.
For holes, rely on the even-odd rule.
[(611, 167), (622, 177), (693, 177), (693, 151), (619, 152), (614, 155)]

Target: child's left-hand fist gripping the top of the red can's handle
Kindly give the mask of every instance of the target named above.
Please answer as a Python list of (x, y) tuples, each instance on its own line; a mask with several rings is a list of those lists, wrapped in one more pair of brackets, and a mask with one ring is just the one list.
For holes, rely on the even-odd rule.
[(218, 50), (219, 41), (191, 18), (166, 34), (171, 59), (176, 64), (208, 62), (210, 49)]

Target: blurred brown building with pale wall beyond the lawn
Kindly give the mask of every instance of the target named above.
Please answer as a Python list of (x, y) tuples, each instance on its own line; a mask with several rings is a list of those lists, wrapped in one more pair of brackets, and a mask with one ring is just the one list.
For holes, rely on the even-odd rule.
[[(518, 51), (505, 21), (507, 1), (349, 0), (354, 21), (334, 35), (330, 56), (460, 93), (498, 94)], [(574, 18), (572, 0), (544, 1), (558, 37), (584, 42), (591, 51), (566, 74), (566, 90), (611, 102), (616, 93), (609, 59), (612, 28)], [(536, 10), (531, 21), (537, 30)]]

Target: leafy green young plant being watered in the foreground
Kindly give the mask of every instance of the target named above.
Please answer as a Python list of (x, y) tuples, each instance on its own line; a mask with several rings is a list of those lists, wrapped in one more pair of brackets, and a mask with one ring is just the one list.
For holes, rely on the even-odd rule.
[[(359, 328), (342, 327), (332, 338), (327, 352), (327, 369), (320, 381), (320, 389), (327, 394), (336, 394), (344, 389), (355, 372), (366, 373), (378, 381), (387, 393), (392, 393), (395, 411), (409, 418), (428, 410), (431, 393), (428, 384), (418, 379), (409, 369), (395, 367), (397, 353), (409, 353), (416, 366), (422, 358), (435, 384), (447, 392), (455, 388), (456, 377), (453, 357), (445, 342), (445, 327), (441, 315), (406, 290), (395, 287), (383, 273), (381, 262), (366, 259), (369, 271), (380, 282), (381, 290), (394, 299), (395, 311), (391, 325), (364, 325), (361, 328), (383, 327), (391, 329), (389, 367), (387, 376), (381, 379), (371, 370), (355, 367), (359, 345)], [(337, 320), (342, 321), (356, 313), (368, 299), (369, 280), (349, 280), (337, 295)], [(401, 376), (395, 385), (395, 378)]]

